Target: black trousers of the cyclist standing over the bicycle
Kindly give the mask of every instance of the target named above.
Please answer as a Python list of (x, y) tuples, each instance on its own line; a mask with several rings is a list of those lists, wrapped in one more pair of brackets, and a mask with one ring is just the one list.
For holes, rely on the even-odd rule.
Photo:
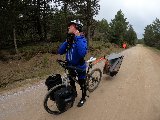
[[(76, 77), (76, 76), (78, 77), (78, 82), (79, 82), (79, 85), (80, 85), (81, 90), (82, 90), (82, 99), (85, 99), (85, 97), (86, 97), (86, 71), (84, 71), (84, 72), (76, 72), (76, 71), (70, 70), (69, 74), (71, 75), (71, 77), (70, 77), (70, 85), (75, 90), (76, 90), (76, 85), (75, 85), (75, 81), (72, 79), (72, 77)], [(79, 76), (84, 76), (84, 77), (82, 79), (82, 78), (79, 78)]]

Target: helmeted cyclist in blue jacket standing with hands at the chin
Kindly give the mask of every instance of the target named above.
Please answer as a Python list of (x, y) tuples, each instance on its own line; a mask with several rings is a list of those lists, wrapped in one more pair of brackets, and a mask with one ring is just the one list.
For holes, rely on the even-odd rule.
[[(87, 40), (84, 35), (81, 35), (83, 25), (80, 21), (71, 21), (68, 24), (68, 38), (64, 43), (59, 47), (58, 54), (62, 55), (66, 53), (66, 61), (68, 65), (76, 66), (77, 68), (83, 69), (84, 71), (75, 71), (70, 70), (69, 74), (75, 77), (75, 74), (78, 74), (78, 82), (82, 90), (82, 98), (78, 103), (78, 107), (83, 106), (86, 102), (86, 63), (84, 60), (85, 55), (87, 54)], [(73, 39), (72, 39), (73, 38)], [(71, 86), (76, 91), (75, 82), (70, 81)], [(77, 96), (77, 92), (76, 92)]]

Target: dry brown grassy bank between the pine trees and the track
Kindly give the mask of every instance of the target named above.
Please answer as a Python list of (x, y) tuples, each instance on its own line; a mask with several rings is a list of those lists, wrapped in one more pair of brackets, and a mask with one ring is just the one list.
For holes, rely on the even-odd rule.
[[(7, 61), (0, 61), (0, 92), (45, 80), (53, 73), (62, 73), (63, 69), (56, 62), (58, 58), (56, 51), (59, 45), (60, 43), (47, 43), (20, 48), (20, 60), (8, 54), (10, 57), (5, 58)], [(92, 41), (86, 60), (91, 56), (99, 58), (122, 50), (111, 43)], [(65, 59), (65, 55), (62, 59)]]

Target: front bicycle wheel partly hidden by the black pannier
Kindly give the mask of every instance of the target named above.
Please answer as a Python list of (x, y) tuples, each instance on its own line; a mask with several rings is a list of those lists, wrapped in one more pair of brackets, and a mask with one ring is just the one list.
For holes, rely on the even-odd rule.
[(53, 94), (56, 90), (59, 90), (61, 88), (65, 87), (64, 84), (59, 84), (53, 88), (51, 88), (48, 93), (46, 94), (46, 96), (44, 97), (44, 109), (50, 113), (50, 114), (55, 114), (58, 115), (61, 112), (58, 110), (56, 102), (53, 100)]

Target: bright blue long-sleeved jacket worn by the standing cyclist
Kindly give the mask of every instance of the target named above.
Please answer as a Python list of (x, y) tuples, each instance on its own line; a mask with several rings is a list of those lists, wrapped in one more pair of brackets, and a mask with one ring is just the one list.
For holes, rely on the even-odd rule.
[(84, 36), (75, 36), (72, 47), (67, 50), (68, 43), (64, 42), (60, 45), (58, 54), (66, 53), (66, 60), (70, 65), (76, 66), (80, 69), (86, 69), (86, 63), (79, 65), (80, 59), (84, 58), (87, 54), (87, 40)]

